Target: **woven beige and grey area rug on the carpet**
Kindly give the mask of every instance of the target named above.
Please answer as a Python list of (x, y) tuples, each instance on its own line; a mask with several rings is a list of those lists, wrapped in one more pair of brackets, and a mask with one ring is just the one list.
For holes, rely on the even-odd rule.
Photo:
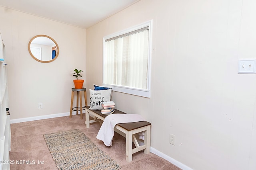
[(79, 129), (46, 134), (44, 139), (60, 170), (118, 170), (121, 168)]

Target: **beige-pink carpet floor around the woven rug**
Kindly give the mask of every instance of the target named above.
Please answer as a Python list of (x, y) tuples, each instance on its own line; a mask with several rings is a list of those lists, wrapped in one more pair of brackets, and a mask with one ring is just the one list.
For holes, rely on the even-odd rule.
[[(84, 124), (85, 118), (80, 115), (57, 117), (38, 121), (11, 124), (11, 151), (10, 160), (15, 164), (10, 165), (11, 170), (58, 170), (52, 155), (44, 141), (44, 134), (72, 129), (80, 129), (96, 145), (114, 159), (122, 168), (121, 170), (180, 170), (167, 160), (155, 154), (137, 152), (132, 156), (132, 162), (126, 162), (125, 138), (115, 133), (112, 147), (96, 139), (99, 123), (92, 123), (90, 128)], [(17, 164), (20, 162), (20, 164)]]

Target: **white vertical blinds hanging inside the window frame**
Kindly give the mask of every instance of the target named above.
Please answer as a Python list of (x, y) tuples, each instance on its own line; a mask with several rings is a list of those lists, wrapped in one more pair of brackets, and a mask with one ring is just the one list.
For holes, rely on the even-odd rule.
[(107, 39), (104, 83), (147, 89), (148, 27)]

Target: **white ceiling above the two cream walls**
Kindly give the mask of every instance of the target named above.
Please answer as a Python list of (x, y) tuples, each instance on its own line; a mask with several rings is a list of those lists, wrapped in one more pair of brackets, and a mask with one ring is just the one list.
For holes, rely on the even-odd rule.
[(88, 28), (140, 0), (0, 0), (0, 6)]

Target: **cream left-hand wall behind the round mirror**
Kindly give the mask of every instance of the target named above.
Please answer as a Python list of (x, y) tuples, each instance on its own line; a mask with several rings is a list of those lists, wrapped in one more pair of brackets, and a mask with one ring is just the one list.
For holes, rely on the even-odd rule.
[[(74, 68), (86, 69), (86, 30), (3, 7), (0, 30), (6, 45), (10, 118), (69, 112), (74, 87), (70, 73)], [(58, 43), (55, 61), (40, 63), (30, 56), (28, 43), (39, 34)], [(85, 79), (85, 72), (82, 75)], [(43, 109), (38, 109), (38, 103)]]

